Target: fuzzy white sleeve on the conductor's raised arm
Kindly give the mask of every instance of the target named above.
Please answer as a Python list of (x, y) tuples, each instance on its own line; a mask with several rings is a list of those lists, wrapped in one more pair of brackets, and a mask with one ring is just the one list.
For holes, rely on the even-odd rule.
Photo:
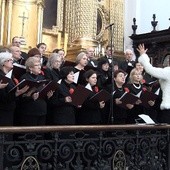
[(138, 61), (144, 66), (145, 71), (151, 76), (158, 79), (167, 79), (170, 74), (170, 67), (157, 68), (150, 64), (150, 59), (147, 54), (142, 54)]

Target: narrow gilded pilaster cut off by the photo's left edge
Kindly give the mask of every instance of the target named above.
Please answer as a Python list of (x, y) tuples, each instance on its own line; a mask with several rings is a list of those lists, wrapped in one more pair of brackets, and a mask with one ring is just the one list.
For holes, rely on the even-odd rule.
[(1, 13), (1, 18), (0, 18), (0, 45), (3, 45), (3, 39), (4, 39), (4, 27), (5, 27), (5, 22), (4, 22), (4, 17), (5, 17), (5, 0), (0, 1), (0, 13)]

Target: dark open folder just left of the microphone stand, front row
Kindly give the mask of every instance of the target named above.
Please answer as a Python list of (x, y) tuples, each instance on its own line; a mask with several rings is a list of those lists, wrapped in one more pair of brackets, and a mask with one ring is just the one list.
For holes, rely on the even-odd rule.
[(110, 100), (111, 98), (111, 94), (109, 92), (107, 92), (106, 90), (100, 90), (98, 93), (96, 93), (94, 96), (92, 96), (90, 98), (90, 100), (97, 100), (98, 102), (101, 102), (101, 101), (108, 101)]

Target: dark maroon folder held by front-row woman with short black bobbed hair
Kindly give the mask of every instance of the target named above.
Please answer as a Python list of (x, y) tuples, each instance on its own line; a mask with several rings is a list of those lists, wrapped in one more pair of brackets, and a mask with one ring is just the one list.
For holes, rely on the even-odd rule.
[(78, 85), (74, 89), (74, 93), (70, 95), (72, 98), (72, 104), (76, 107), (81, 106), (91, 93), (93, 92), (89, 89), (86, 89), (84, 86)]

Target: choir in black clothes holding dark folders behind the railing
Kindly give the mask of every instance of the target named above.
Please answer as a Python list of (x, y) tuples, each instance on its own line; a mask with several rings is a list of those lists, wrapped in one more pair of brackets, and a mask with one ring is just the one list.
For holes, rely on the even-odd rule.
[(114, 47), (99, 59), (88, 48), (70, 62), (62, 49), (44, 57), (45, 43), (27, 54), (18, 37), (12, 43), (0, 48), (1, 126), (133, 124), (139, 114), (164, 121), (159, 81), (131, 50), (119, 61), (110, 56)]

